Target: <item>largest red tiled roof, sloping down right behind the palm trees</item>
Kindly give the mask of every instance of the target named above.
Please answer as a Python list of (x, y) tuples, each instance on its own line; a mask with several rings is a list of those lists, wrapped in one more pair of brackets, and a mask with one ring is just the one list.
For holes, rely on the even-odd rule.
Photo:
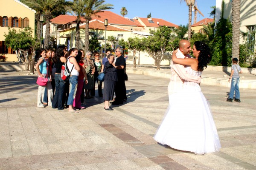
[(99, 12), (99, 13), (97, 13), (97, 15), (99, 15), (100, 17), (97, 17), (94, 15), (94, 16), (92, 16), (92, 19), (100, 20), (102, 22), (104, 22), (105, 19), (108, 19), (108, 23), (112, 24), (112, 25), (144, 27), (140, 23), (134, 23), (134, 22), (128, 20), (127, 18), (122, 17), (118, 14), (115, 14), (111, 11)]

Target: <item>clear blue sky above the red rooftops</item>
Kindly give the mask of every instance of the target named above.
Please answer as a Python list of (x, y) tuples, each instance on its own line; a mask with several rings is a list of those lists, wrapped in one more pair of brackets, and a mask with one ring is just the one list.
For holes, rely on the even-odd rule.
[[(215, 6), (216, 0), (196, 0), (198, 9), (204, 14), (197, 14), (198, 19), (212, 18), (209, 13), (212, 11), (211, 6)], [(184, 0), (105, 0), (105, 3), (113, 4), (112, 11), (120, 14), (121, 8), (125, 7), (128, 14), (125, 17), (143, 17), (146, 18), (151, 12), (152, 18), (161, 18), (176, 25), (186, 25), (189, 23), (189, 7), (186, 6)], [(193, 17), (192, 17), (193, 24)]]

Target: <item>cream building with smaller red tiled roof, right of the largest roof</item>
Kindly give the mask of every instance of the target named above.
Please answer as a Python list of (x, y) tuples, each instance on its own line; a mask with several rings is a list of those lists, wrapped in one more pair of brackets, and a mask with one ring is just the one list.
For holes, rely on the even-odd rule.
[[(131, 20), (131, 19), (129, 19)], [(170, 23), (166, 20), (160, 19), (160, 18), (141, 18), (141, 17), (134, 17), (132, 20), (135, 22), (139, 22), (141, 25), (144, 26), (145, 31), (156, 30), (160, 26), (167, 26), (169, 28), (178, 28), (174, 23)]]

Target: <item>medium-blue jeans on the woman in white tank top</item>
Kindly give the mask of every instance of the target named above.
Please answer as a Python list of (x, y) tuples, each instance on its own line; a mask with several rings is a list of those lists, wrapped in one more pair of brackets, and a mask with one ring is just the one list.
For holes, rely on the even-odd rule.
[(70, 82), (70, 90), (69, 90), (69, 95), (67, 99), (67, 105), (73, 105), (74, 99), (76, 97), (78, 76), (71, 75), (69, 82)]

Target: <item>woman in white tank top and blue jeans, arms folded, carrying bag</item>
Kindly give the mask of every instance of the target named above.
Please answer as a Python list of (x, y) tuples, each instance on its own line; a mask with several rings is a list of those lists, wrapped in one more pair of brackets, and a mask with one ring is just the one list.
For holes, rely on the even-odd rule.
[(69, 84), (70, 84), (70, 91), (69, 91), (69, 96), (67, 99), (67, 105), (68, 106), (68, 111), (70, 113), (78, 113), (75, 108), (73, 107), (73, 102), (76, 96), (76, 89), (77, 89), (77, 83), (78, 83), (78, 76), (79, 76), (79, 71), (80, 67), (78, 63), (76, 62), (76, 56), (78, 54), (78, 49), (77, 48), (71, 48), (67, 56), (67, 67), (70, 71), (70, 79), (69, 79)]

